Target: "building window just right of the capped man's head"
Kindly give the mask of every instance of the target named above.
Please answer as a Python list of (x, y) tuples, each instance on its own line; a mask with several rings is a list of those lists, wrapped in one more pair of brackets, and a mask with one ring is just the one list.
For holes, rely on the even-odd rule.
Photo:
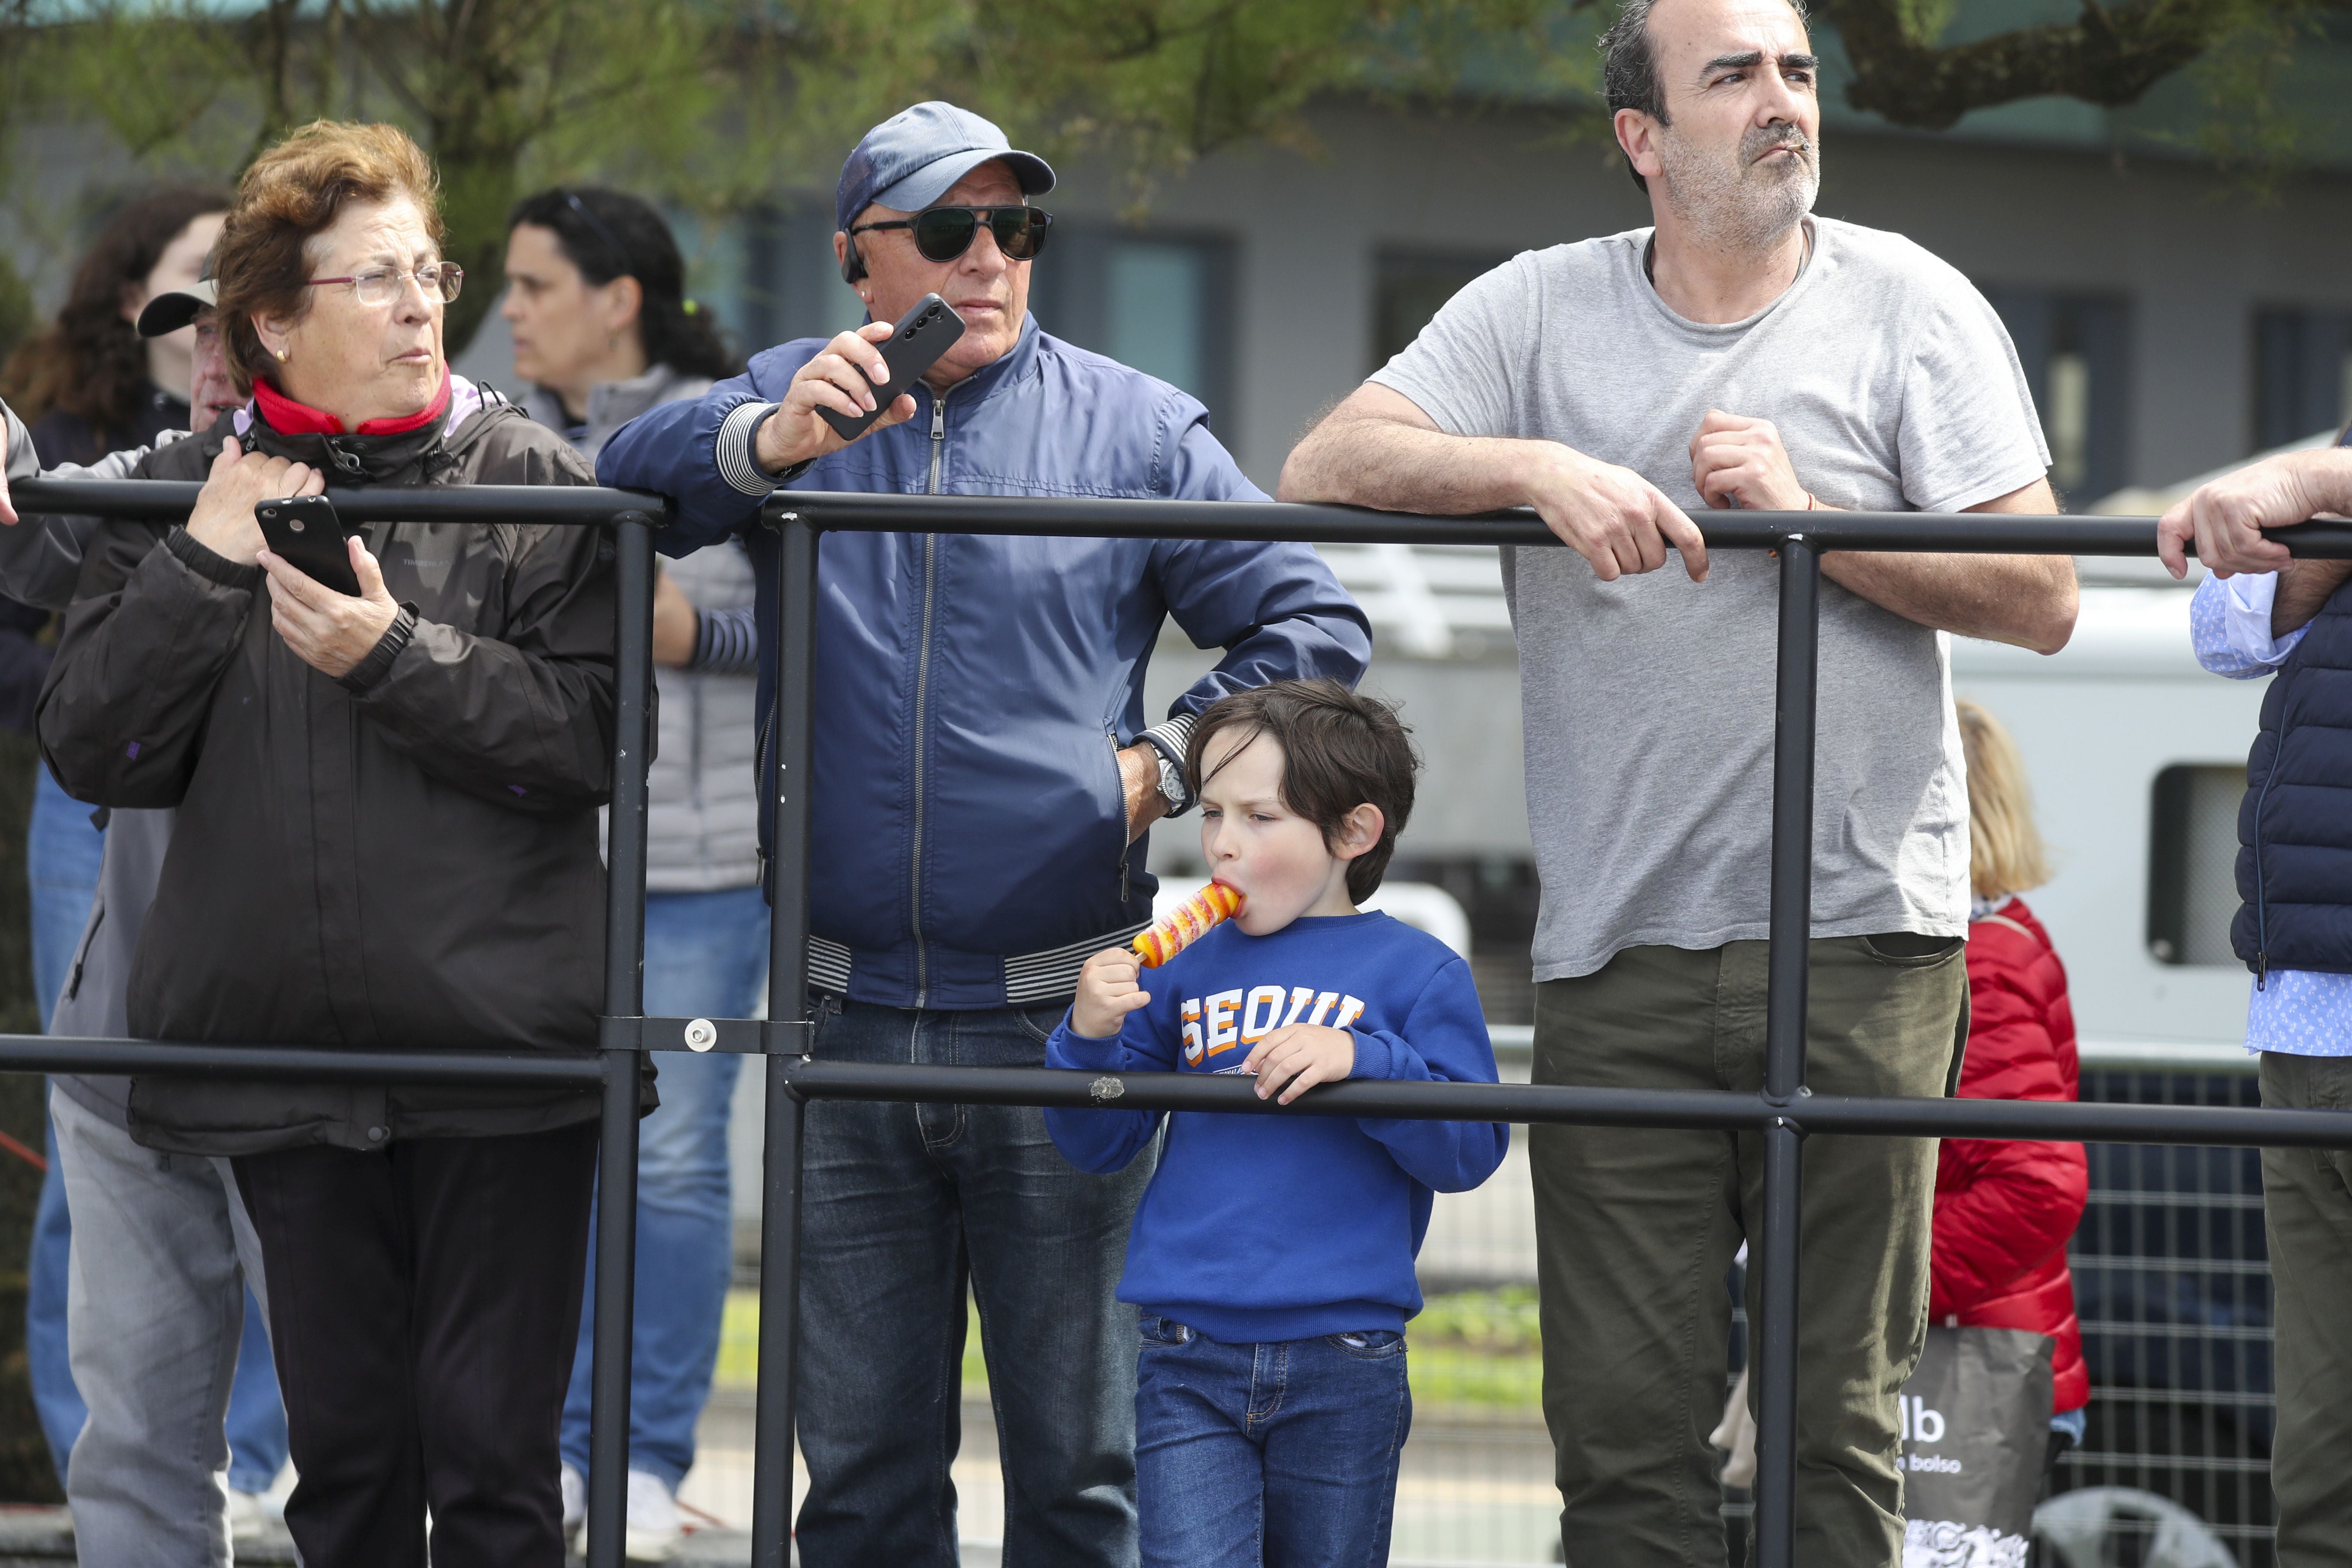
[(1054, 223), (1030, 268), (1037, 324), (1209, 404), (1232, 430), (1232, 242)]

